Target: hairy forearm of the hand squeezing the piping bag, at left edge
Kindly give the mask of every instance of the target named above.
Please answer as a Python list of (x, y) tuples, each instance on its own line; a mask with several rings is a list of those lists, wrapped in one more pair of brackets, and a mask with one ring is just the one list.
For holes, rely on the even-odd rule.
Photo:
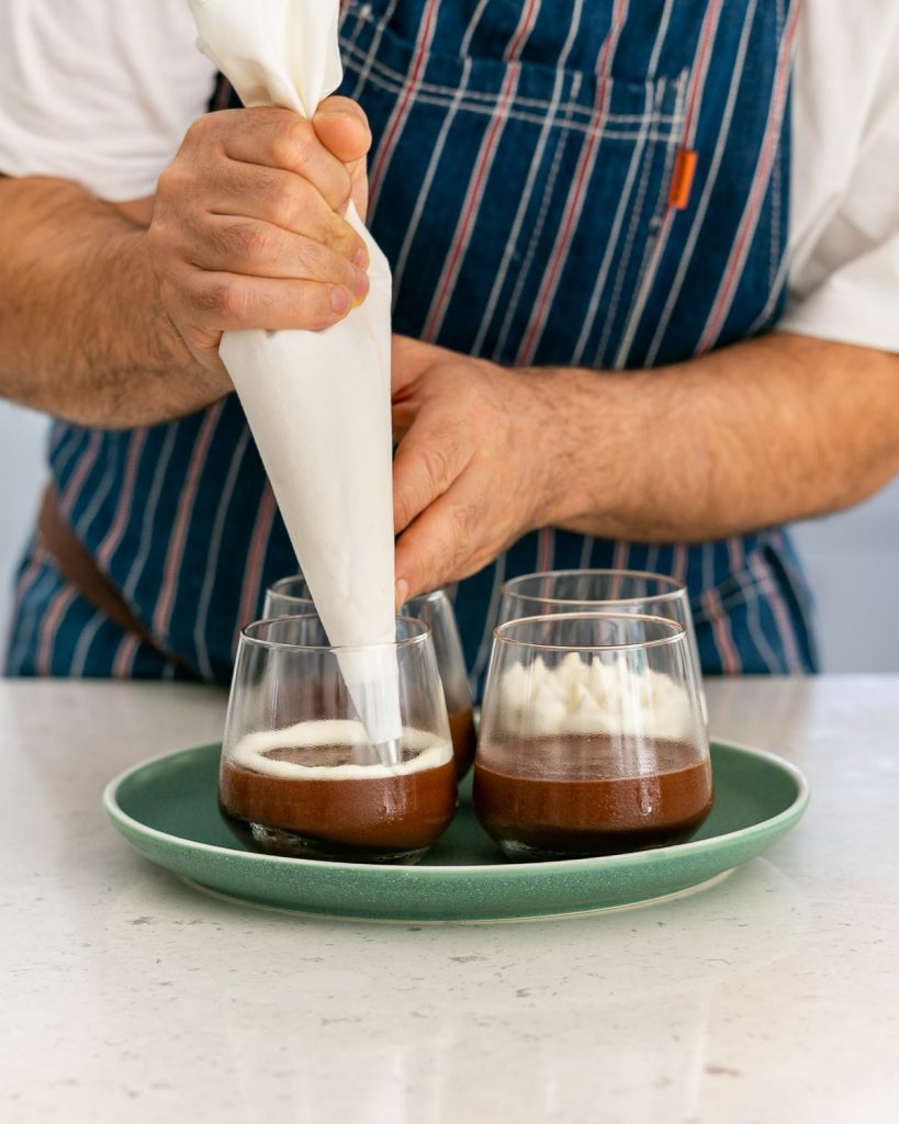
[(163, 310), (146, 233), (74, 183), (0, 179), (0, 395), (83, 425), (151, 425), (221, 397)]

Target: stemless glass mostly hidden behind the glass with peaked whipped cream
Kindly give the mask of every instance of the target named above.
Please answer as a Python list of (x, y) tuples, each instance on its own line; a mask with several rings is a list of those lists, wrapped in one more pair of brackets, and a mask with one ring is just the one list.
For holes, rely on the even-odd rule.
[(702, 717), (708, 725), (699, 645), (683, 582), (643, 570), (546, 570), (503, 583), (498, 624), (551, 613), (638, 613), (683, 625), (699, 682)]

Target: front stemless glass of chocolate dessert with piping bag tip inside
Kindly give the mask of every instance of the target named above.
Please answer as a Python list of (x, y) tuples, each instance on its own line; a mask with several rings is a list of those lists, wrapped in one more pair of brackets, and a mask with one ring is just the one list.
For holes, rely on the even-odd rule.
[[(416, 862), (450, 825), (456, 777), (427, 626), (397, 618), (397, 641), (329, 647), (315, 614), (240, 634), (219, 773), (219, 807), (248, 846), (347, 862)], [(340, 659), (396, 654), (402, 737), (381, 760), (358, 720)]]

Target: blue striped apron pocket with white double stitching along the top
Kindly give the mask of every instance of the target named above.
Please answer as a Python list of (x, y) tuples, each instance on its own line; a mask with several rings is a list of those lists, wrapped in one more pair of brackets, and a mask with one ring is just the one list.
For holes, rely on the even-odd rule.
[(652, 251), (687, 72), (425, 52), (370, 4), (348, 10), (340, 43), (340, 92), (374, 135), (369, 221), (396, 329), (509, 364), (592, 362)]

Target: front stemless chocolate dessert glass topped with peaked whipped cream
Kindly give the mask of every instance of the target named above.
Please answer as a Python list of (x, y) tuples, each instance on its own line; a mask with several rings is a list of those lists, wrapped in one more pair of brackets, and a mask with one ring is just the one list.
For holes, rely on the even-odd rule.
[(683, 842), (711, 801), (708, 734), (682, 625), (576, 613), (494, 631), (474, 808), (507, 858)]

